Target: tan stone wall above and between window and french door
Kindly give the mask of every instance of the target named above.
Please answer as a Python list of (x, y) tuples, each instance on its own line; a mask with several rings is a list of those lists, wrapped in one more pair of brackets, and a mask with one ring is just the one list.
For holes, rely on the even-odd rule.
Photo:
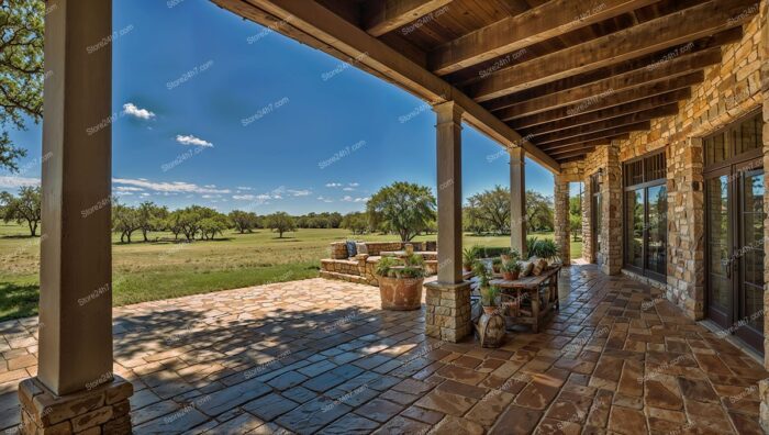
[[(766, 0), (762, 3), (766, 7)], [(766, 19), (756, 16), (744, 26), (740, 42), (722, 49), (722, 64), (705, 69), (705, 81), (692, 87), (692, 98), (679, 103), (677, 115), (654, 120), (649, 132), (632, 133), (629, 140), (620, 141), (621, 163), (667, 148), (667, 297), (696, 320), (705, 310), (701, 138), (761, 107), (758, 47), (762, 22)], [(598, 153), (601, 150), (593, 154)]]

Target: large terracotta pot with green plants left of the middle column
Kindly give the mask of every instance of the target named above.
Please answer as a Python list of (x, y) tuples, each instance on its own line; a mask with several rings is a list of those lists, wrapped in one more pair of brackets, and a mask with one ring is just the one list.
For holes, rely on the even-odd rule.
[(423, 258), (411, 255), (400, 260), (382, 257), (377, 264), (382, 310), (409, 311), (422, 306)]

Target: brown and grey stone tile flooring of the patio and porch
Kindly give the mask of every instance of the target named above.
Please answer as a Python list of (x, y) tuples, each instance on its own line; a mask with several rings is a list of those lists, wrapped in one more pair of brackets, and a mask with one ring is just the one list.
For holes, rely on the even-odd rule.
[[(115, 309), (134, 432), (759, 434), (753, 359), (660, 292), (575, 266), (561, 311), (500, 349), (423, 335), (376, 288), (310, 279)], [(0, 428), (36, 320), (0, 324)]]

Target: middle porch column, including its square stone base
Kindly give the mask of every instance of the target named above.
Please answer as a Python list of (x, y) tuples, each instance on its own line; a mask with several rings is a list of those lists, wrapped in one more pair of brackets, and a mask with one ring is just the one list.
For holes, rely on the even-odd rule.
[(427, 283), (425, 333), (458, 342), (470, 333), (470, 283), (461, 270), (461, 115), (454, 101), (437, 115), (438, 279)]

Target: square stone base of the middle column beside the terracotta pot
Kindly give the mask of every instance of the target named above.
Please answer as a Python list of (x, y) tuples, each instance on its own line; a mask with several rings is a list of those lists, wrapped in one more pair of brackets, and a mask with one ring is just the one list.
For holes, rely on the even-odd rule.
[(425, 298), (425, 334), (444, 342), (457, 343), (470, 335), (470, 283), (428, 282)]

